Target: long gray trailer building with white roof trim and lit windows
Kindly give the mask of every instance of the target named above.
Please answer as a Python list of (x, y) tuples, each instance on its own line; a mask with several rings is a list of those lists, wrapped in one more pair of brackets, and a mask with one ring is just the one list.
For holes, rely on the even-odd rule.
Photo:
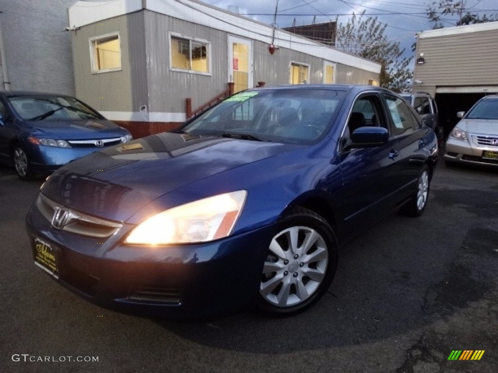
[(77, 1), (76, 94), (135, 136), (264, 82), (378, 84), (380, 65), (196, 0)]

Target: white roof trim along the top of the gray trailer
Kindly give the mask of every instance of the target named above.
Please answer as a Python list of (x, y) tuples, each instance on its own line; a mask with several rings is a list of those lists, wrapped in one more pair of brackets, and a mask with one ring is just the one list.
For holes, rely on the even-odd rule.
[[(81, 27), (141, 9), (226, 31), (229, 34), (259, 40), (267, 44), (271, 43), (273, 33), (271, 26), (195, 0), (77, 1), (69, 8), (69, 26)], [(380, 64), (376, 62), (281, 29), (276, 30), (274, 43), (281, 48), (292, 49), (375, 74), (380, 73)]]

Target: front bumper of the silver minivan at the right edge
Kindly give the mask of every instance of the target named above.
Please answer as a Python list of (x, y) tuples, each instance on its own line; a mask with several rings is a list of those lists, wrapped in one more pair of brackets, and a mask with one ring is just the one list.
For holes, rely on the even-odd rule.
[(498, 154), (498, 147), (472, 147), (468, 142), (448, 138), (444, 160), (468, 165), (498, 167), (498, 157), (497, 159), (483, 158), (485, 151)]

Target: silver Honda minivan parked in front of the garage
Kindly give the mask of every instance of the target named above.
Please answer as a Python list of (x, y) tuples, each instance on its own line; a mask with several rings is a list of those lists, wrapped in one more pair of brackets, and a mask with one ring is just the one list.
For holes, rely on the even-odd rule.
[(469, 164), (498, 167), (498, 95), (477, 101), (450, 132), (444, 162), (448, 166)]

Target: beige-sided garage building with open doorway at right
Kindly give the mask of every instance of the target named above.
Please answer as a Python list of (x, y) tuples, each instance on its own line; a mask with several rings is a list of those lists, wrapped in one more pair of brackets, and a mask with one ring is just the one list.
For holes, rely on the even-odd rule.
[(413, 91), (431, 93), (448, 134), (479, 98), (498, 93), (498, 22), (422, 31)]

